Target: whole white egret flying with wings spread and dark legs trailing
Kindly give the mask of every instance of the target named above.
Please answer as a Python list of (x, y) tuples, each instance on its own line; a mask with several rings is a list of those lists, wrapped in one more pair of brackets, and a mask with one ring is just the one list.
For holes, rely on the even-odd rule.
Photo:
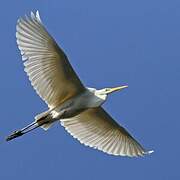
[(47, 130), (59, 121), (82, 144), (108, 154), (133, 157), (153, 152), (146, 151), (101, 107), (108, 94), (127, 86), (100, 90), (85, 87), (65, 53), (47, 32), (38, 11), (20, 18), (16, 29), (25, 72), (49, 110), (37, 115), (30, 125), (13, 132), (7, 141), (39, 126)]

